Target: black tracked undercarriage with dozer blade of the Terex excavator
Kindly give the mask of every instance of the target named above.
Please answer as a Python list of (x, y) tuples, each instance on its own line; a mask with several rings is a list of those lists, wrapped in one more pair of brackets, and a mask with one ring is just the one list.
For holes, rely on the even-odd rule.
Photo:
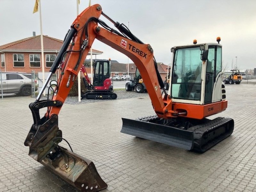
[(122, 133), (201, 153), (230, 136), (234, 130), (234, 120), (224, 117), (197, 120), (148, 116), (122, 120)]

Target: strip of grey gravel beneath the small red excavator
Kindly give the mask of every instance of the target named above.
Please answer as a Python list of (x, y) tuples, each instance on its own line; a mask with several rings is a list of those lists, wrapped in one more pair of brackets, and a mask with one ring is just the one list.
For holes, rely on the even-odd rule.
[[(117, 95), (117, 100), (120, 99), (129, 99), (129, 98), (136, 98), (136, 97), (146, 97), (148, 93), (137, 93), (136, 91), (125, 91), (125, 90), (118, 90), (114, 91)], [(51, 97), (50, 97), (51, 98)], [(42, 97), (41, 100), (47, 99), (46, 97)], [(78, 105), (78, 104), (85, 104), (85, 103), (95, 103), (95, 102), (103, 102), (103, 101), (112, 101), (112, 100), (104, 100), (104, 99), (81, 99), (81, 102), (78, 102), (78, 97), (67, 97), (65, 100), (65, 104), (70, 105)]]

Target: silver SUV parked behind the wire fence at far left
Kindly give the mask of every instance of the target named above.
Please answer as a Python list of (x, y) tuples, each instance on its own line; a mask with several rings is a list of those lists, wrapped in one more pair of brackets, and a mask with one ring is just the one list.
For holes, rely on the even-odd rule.
[[(37, 91), (37, 82), (35, 80), (35, 83), (32, 84), (32, 75), (29, 73), (2, 72), (3, 93), (15, 93), (21, 96), (28, 96), (31, 95), (33, 85), (35, 85), (35, 91)], [(0, 82), (0, 94), (1, 93)]]

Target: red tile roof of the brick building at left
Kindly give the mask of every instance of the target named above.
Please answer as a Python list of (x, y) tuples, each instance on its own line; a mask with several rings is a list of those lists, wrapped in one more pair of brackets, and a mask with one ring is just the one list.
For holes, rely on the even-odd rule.
[[(44, 51), (59, 51), (63, 41), (55, 39), (53, 37), (43, 35)], [(12, 43), (4, 44), (0, 46), (0, 50), (24, 50), (24, 51), (41, 51), (41, 36), (28, 37)], [(92, 49), (93, 53), (102, 54), (103, 52)]]

